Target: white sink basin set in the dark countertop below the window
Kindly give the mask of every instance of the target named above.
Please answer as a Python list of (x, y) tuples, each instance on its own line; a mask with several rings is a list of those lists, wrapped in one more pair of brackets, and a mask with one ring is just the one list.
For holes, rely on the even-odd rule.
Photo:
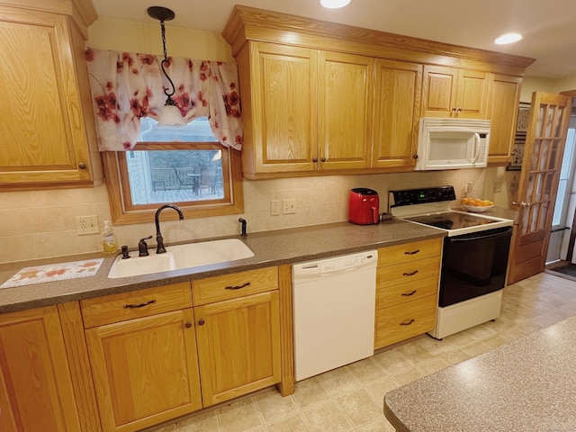
[(148, 257), (122, 259), (120, 255), (116, 257), (112, 264), (108, 277), (149, 275), (183, 268), (225, 263), (249, 257), (254, 257), (254, 252), (238, 238), (202, 241), (166, 247), (165, 254), (156, 255), (152, 253)]

